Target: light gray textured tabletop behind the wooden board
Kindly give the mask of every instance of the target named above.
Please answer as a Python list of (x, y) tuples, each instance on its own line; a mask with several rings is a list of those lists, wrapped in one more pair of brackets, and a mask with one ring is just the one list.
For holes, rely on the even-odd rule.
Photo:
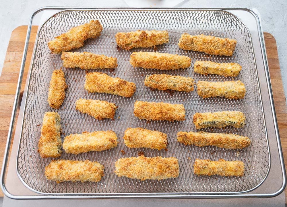
[[(159, 6), (149, 1), (151, 6)], [(49, 2), (27, 1), (8, 1), (0, 0), (0, 73), (2, 71), (4, 57), (8, 46), (11, 32), (20, 25), (27, 25), (31, 13), (43, 6), (85, 6), (85, 7), (102, 7), (102, 6), (127, 6), (125, 1), (118, 0), (98, 0), (98, 1), (75, 1), (75, 0), (50, 0)], [(145, 4), (146, 5), (146, 4)], [(287, 49), (286, 25), (287, 1), (223, 1), (210, 2), (201, 1), (184, 1), (179, 6), (183, 7), (248, 7), (256, 8), (261, 14), (263, 31), (274, 35), (277, 41), (279, 61), (281, 66), (282, 79), (284, 84), (285, 95), (287, 94), (287, 58), (285, 51)], [(0, 199), (0, 206), (2, 200)]]

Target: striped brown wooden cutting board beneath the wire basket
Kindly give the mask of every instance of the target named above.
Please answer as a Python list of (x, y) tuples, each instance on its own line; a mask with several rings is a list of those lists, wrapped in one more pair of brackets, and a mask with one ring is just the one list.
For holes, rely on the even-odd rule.
[[(30, 60), (32, 56), (32, 50), (36, 38), (38, 26), (32, 26), (30, 43), (28, 47), (27, 59), (25, 64), (25, 70), (23, 75), (21, 91), (24, 90), (28, 69), (30, 66)], [(5, 61), (0, 77), (0, 166), (3, 162), (3, 154), (5, 150), (5, 144), (8, 135), (8, 129), (11, 119), (13, 101), (16, 92), (16, 86), (18, 82), (19, 70), (22, 60), (22, 54), (24, 50), (24, 42), (26, 38), (27, 26), (20, 26), (13, 30), (10, 38), (10, 42), (7, 48)], [(274, 104), (277, 114), (277, 121), (279, 127), (279, 133), (281, 138), (282, 150), (284, 154), (285, 169), (287, 167), (287, 108), (285, 95), (283, 90), (280, 65), (278, 60), (277, 46), (275, 38), (264, 32), (265, 46), (267, 51), (267, 58), (269, 64), (270, 78), (273, 89)], [(18, 112), (16, 117), (18, 117)], [(15, 121), (17, 123), (17, 119)], [(14, 127), (15, 130), (15, 127)], [(14, 131), (15, 132), (15, 131)], [(0, 191), (0, 196), (3, 196), (3, 192)], [(285, 190), (285, 200), (287, 192)]]

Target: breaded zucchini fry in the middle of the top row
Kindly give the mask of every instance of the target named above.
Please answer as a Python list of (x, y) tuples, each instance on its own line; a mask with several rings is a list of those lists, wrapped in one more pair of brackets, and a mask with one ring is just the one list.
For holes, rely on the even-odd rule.
[(168, 42), (168, 32), (160, 30), (118, 32), (115, 37), (117, 45), (124, 50), (138, 47), (153, 47)]

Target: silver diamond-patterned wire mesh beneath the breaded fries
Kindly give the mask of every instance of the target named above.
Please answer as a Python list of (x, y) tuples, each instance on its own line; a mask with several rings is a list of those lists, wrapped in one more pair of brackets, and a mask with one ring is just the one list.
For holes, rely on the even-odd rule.
[[(52, 40), (71, 27), (98, 19), (103, 31), (99, 38), (85, 41), (82, 48), (73, 52), (92, 52), (116, 57), (118, 67), (114, 70), (101, 71), (112, 77), (120, 77), (134, 82), (137, 90), (133, 97), (125, 98), (110, 94), (88, 93), (83, 85), (85, 71), (81, 69), (63, 68), (68, 85), (66, 97), (59, 108), (55, 110), (47, 103), (49, 81), (53, 70), (62, 67), (60, 55), (51, 54), (47, 42)], [(130, 51), (117, 50), (115, 34), (135, 30), (167, 30), (169, 42), (157, 46), (158, 52), (186, 55), (192, 60), (187, 69), (174, 71), (160, 71), (155, 69), (133, 68), (129, 64), (129, 56), (134, 51), (150, 51), (152, 48), (140, 48)], [(233, 56), (212, 56), (202, 52), (183, 51), (177, 43), (184, 32), (198, 35), (212, 35), (234, 38), (237, 45)], [(50, 194), (117, 194), (117, 193), (230, 193), (250, 190), (264, 179), (269, 169), (269, 154), (267, 137), (261, 108), (260, 92), (257, 82), (257, 69), (253, 58), (251, 39), (248, 29), (242, 22), (224, 11), (85, 11), (67, 10), (51, 17), (39, 30), (33, 65), (30, 75), (26, 109), (24, 114), (22, 136), (18, 153), (18, 174), (22, 181), (30, 188)], [(216, 75), (199, 75), (194, 73), (193, 64), (196, 60), (210, 60), (214, 62), (235, 62), (242, 66), (238, 77), (222, 77)], [(195, 81), (227, 81), (241, 80), (247, 89), (244, 99), (229, 100), (225, 98), (200, 98), (196, 91), (189, 93), (175, 91), (173, 94), (166, 91), (151, 91), (144, 86), (144, 78), (151, 74), (170, 74), (193, 77)], [(115, 103), (119, 108), (115, 120), (95, 120), (87, 114), (75, 111), (75, 101), (79, 98), (100, 99)], [(183, 122), (139, 120), (133, 115), (133, 104), (136, 100), (156, 101), (166, 103), (183, 103), (186, 110), (186, 120)], [(198, 131), (192, 123), (195, 112), (242, 111), (246, 116), (246, 125), (243, 128), (205, 128), (202, 131), (218, 133), (234, 133), (251, 138), (251, 146), (245, 149), (231, 150), (218, 147), (185, 146), (176, 141), (178, 131)], [(63, 182), (57, 184), (44, 176), (44, 168), (51, 159), (42, 159), (37, 153), (37, 143), (40, 137), (40, 128), (44, 113), (56, 111), (61, 116), (62, 135), (82, 133), (83, 131), (113, 130), (118, 136), (117, 147), (102, 151), (89, 152), (79, 155), (66, 154), (64, 151), (59, 159), (98, 161), (104, 165), (104, 177), (100, 182)], [(158, 130), (167, 134), (167, 151), (153, 149), (129, 149), (124, 145), (123, 134), (126, 128), (143, 127)], [(121, 153), (125, 152), (125, 155)], [(121, 157), (137, 156), (144, 152), (147, 157), (177, 157), (180, 174), (175, 179), (139, 181), (126, 177), (117, 177), (114, 173), (114, 163)], [(199, 159), (242, 160), (245, 163), (243, 177), (196, 176), (193, 174), (193, 162)]]

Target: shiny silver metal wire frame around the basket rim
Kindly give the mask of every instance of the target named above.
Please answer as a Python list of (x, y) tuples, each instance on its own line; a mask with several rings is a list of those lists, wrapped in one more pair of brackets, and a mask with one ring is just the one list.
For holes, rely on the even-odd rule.
[[(8, 161), (8, 154), (9, 154), (9, 149), (10, 149), (10, 145), (11, 145), (11, 138), (12, 138), (12, 132), (13, 132), (13, 125), (15, 122), (15, 116), (16, 116), (16, 110), (17, 110), (17, 105), (18, 105), (18, 100), (19, 100), (19, 94), (20, 94), (20, 88), (21, 88), (21, 83), (22, 83), (22, 77), (23, 77), (23, 72), (24, 72), (24, 66), (25, 66), (25, 61), (26, 61), (26, 55), (27, 55), (27, 50), (28, 50), (28, 42), (29, 42), (29, 38), (30, 38), (30, 33), (31, 33), (31, 27), (32, 27), (32, 22), (33, 22), (33, 18), (34, 16), (39, 13), (40, 11), (43, 10), (47, 10), (47, 9), (56, 9), (56, 10), (108, 10), (108, 11), (112, 11), (112, 10), (155, 10), (155, 11), (170, 11), (170, 10), (196, 10), (196, 11), (201, 11), (201, 10), (246, 10), (248, 12), (250, 12), (255, 19), (257, 20), (257, 26), (258, 26), (258, 30), (261, 31), (261, 26), (260, 26), (260, 22), (259, 22), (259, 18), (257, 16), (256, 13), (254, 13), (252, 10), (247, 9), (247, 8), (180, 8), (180, 7), (174, 7), (174, 8), (133, 8), (133, 7), (120, 7), (120, 8), (82, 8), (82, 7), (78, 7), (78, 8), (74, 8), (74, 7), (43, 7), (40, 8), (38, 10), (36, 10), (29, 21), (29, 25), (28, 25), (28, 30), (27, 30), (27, 36), (26, 36), (26, 41), (25, 41), (25, 45), (24, 45), (24, 52), (23, 52), (23, 57), (22, 57), (22, 63), (21, 63), (21, 68), (20, 68), (20, 74), (19, 74), (19, 79), (18, 79), (18, 84), (17, 84), (17, 89), (16, 89), (16, 95), (15, 95), (15, 100), (14, 100), (14, 105), (13, 105), (13, 111), (12, 111), (12, 116), (11, 116), (11, 122), (10, 122), (10, 127), (9, 127), (9, 132), (8, 132), (8, 138), (7, 138), (7, 143), (6, 143), (6, 148), (5, 148), (5, 153), (4, 153), (4, 161), (3, 161), (3, 167), (2, 167), (2, 171), (1, 171), (1, 189), (3, 190), (4, 194), (6, 196), (8, 196), (9, 198), (13, 198), (13, 199), (51, 199), (51, 198), (64, 198), (64, 199), (75, 199), (75, 198), (254, 198), (254, 197), (274, 197), (278, 194), (280, 194), (286, 185), (286, 173), (285, 173), (285, 168), (284, 168), (284, 161), (283, 161), (283, 155), (282, 155), (282, 149), (281, 149), (281, 143), (280, 143), (280, 138), (279, 138), (279, 132), (278, 132), (278, 126), (277, 126), (277, 120), (276, 120), (276, 114), (275, 114), (275, 109), (274, 109), (274, 102), (273, 102), (273, 96), (272, 96), (272, 89), (271, 89), (271, 82), (270, 82), (270, 77), (269, 77), (269, 70), (268, 70), (268, 66), (267, 66), (267, 58), (266, 58), (266, 52), (265, 52), (265, 47), (264, 47), (264, 41), (263, 41), (263, 36), (261, 33), (259, 33), (260, 36), (260, 45), (261, 45), (261, 52), (263, 54), (263, 60), (264, 60), (264, 69), (265, 69), (265, 76), (267, 79), (267, 86), (268, 86), (268, 92), (269, 92), (269, 98), (271, 101), (271, 108), (272, 108), (272, 115), (273, 115), (273, 120), (274, 120), (274, 127), (275, 127), (275, 133), (276, 133), (276, 139), (277, 139), (277, 144), (278, 144), (278, 150), (279, 150), (279, 157), (280, 157), (280, 163), (281, 163), (281, 168), (282, 168), (282, 175), (283, 175), (283, 183), (281, 188), (274, 192), (274, 193), (270, 193), (270, 194), (245, 194), (246, 192), (250, 192), (252, 190), (254, 190), (255, 188), (258, 188), (265, 180), (265, 178), (267, 177), (268, 173), (269, 173), (269, 169), (271, 166), (271, 157), (270, 157), (270, 151), (269, 151), (269, 144), (268, 144), (268, 139), (267, 139), (267, 147), (268, 147), (268, 153), (269, 153), (269, 168), (268, 168), (268, 172), (266, 173), (264, 179), (257, 185), (255, 186), (255, 188), (252, 188), (250, 190), (247, 191), (243, 191), (243, 192), (204, 192), (204, 193), (106, 193), (106, 194), (73, 194), (73, 193), (67, 193), (67, 194), (48, 194), (48, 193), (42, 193), (39, 191), (36, 191), (32, 188), (30, 188), (19, 176), (20, 180), (22, 181), (22, 183), (29, 188), (30, 190), (43, 194), (40, 196), (16, 196), (16, 195), (12, 195), (10, 194), (6, 187), (5, 187), (5, 171), (6, 171), (6, 167), (7, 167), (7, 161)], [(227, 12), (227, 11), (224, 11)], [(228, 13), (228, 12), (227, 12)], [(234, 15), (234, 14), (232, 14)], [(235, 16), (235, 15), (234, 15)], [(248, 28), (247, 28), (248, 29)], [(249, 32), (249, 31), (248, 31)], [(249, 32), (250, 34), (250, 32)], [(38, 38), (38, 34), (36, 37), (36, 40)], [(251, 38), (251, 35), (250, 35)], [(252, 40), (251, 40), (252, 43)], [(37, 42), (35, 43), (35, 45), (37, 44)], [(253, 45), (252, 45), (252, 49), (253, 49)], [(35, 50), (34, 50), (35, 53)], [(34, 53), (32, 56), (32, 59), (34, 59)], [(253, 51), (254, 54), (254, 51)], [(254, 57), (254, 62), (255, 62), (255, 56)], [(256, 62), (255, 62), (256, 63)], [(256, 71), (257, 72), (257, 71)], [(258, 73), (258, 72), (257, 72)], [(31, 71), (28, 77), (30, 77), (31, 75)], [(258, 81), (258, 87), (259, 87), (259, 93), (260, 93), (260, 100), (261, 100), (261, 92), (260, 92), (260, 85), (259, 85), (259, 80), (258, 80), (258, 75), (257, 75), (257, 81)], [(30, 79), (29, 79), (30, 82)], [(27, 99), (27, 97), (26, 97)], [(25, 100), (26, 102), (26, 100)], [(26, 104), (25, 104), (26, 105)], [(261, 100), (261, 106), (262, 106), (262, 112), (263, 112), (263, 105), (262, 105), (262, 100)], [(263, 112), (264, 113), (264, 112)], [(264, 119), (264, 124), (265, 124), (265, 118), (263, 116)], [(22, 120), (22, 125), (23, 125), (23, 121), (24, 118)], [(266, 127), (265, 127), (266, 130)], [(22, 132), (21, 132), (22, 133)], [(267, 137), (267, 133), (266, 133), (266, 137)], [(19, 143), (20, 145), (20, 143)], [(19, 152), (19, 147), (18, 147), (18, 152)], [(17, 171), (18, 173), (18, 171)]]

